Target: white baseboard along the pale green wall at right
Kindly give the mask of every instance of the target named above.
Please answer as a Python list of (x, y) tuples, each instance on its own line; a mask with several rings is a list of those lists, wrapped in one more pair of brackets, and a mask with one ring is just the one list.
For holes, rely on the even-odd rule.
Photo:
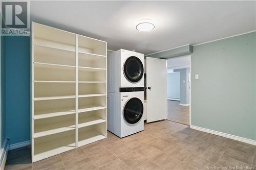
[(230, 135), (230, 134), (227, 134), (227, 133), (218, 132), (218, 131), (210, 130), (210, 129), (206, 129), (206, 128), (201, 128), (201, 127), (194, 126), (194, 125), (190, 125), (190, 128), (191, 129), (196, 129), (196, 130), (199, 130), (199, 131), (203, 131), (203, 132), (206, 132), (206, 133), (211, 133), (211, 134), (214, 134), (214, 135), (226, 137), (226, 138), (229, 138), (229, 139), (238, 140), (238, 141), (241, 141), (241, 142), (256, 145), (256, 140), (247, 139), (247, 138), (236, 136), (236, 135)]

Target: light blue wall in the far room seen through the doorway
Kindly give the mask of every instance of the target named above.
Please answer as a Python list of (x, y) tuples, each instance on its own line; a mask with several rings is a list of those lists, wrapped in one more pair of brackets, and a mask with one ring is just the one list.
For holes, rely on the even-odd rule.
[(167, 98), (180, 99), (180, 72), (167, 74)]

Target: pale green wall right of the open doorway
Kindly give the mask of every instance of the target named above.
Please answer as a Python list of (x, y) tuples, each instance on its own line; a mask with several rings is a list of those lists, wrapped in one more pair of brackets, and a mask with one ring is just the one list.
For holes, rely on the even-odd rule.
[(255, 39), (253, 32), (194, 46), (192, 125), (256, 140)]

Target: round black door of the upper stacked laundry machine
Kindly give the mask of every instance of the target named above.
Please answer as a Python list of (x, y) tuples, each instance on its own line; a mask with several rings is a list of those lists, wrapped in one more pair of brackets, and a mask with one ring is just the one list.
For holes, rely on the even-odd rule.
[(130, 82), (138, 82), (143, 76), (143, 64), (138, 57), (132, 56), (126, 59), (123, 65), (123, 74)]

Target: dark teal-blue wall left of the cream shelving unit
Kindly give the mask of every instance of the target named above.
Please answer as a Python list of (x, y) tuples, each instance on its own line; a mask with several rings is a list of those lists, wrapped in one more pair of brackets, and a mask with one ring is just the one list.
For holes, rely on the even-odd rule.
[(10, 144), (30, 140), (30, 37), (7, 36), (6, 136)]

